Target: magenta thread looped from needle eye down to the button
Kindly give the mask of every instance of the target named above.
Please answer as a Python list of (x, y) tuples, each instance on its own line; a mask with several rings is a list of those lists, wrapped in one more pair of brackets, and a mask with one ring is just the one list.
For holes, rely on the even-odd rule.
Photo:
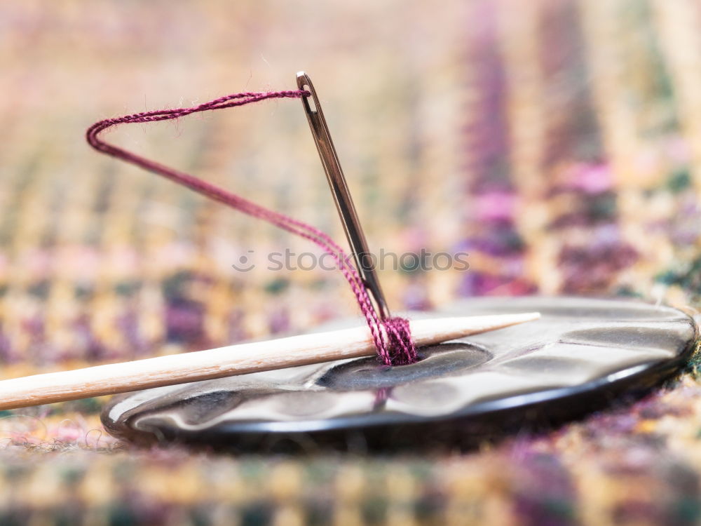
[(100, 133), (107, 130), (107, 128), (111, 128), (112, 126), (117, 126), (119, 124), (167, 121), (169, 119), (179, 119), (180, 117), (197, 112), (243, 106), (243, 104), (250, 104), (251, 102), (259, 102), (266, 99), (300, 98), (308, 95), (310, 95), (310, 93), (305, 90), (236, 93), (233, 95), (226, 95), (226, 97), (220, 97), (191, 108), (161, 109), (154, 112), (142, 112), (125, 115), (122, 117), (117, 117), (116, 119), (105, 119), (104, 121), (99, 121), (93, 124), (93, 126), (90, 126), (86, 132), (86, 138), (90, 146), (103, 154), (114, 156), (117, 159), (121, 159), (144, 168), (144, 170), (162, 175), (163, 177), (182, 184), (183, 186), (188, 187), (199, 194), (203, 194), (214, 199), (215, 201), (224, 203), (225, 205), (235, 208), (236, 210), (240, 210), (241, 212), (251, 215), (252, 217), (257, 217), (261, 220), (272, 223), (281, 229), (291, 232), (292, 234), (297, 234), (298, 236), (306, 238), (318, 245), (320, 248), (327, 250), (327, 252), (334, 257), (336, 264), (338, 264), (339, 269), (346, 278), (346, 281), (348, 281), (348, 284), (351, 285), (351, 290), (353, 290), (355, 299), (358, 300), (360, 311), (362, 311), (363, 316), (365, 316), (370, 333), (372, 334), (372, 339), (378, 356), (381, 358), (383, 363), (386, 365), (403, 365), (413, 363), (417, 359), (417, 354), (414, 341), (411, 339), (409, 322), (404, 318), (398, 317), (389, 318), (384, 321), (379, 319), (379, 316), (377, 315), (374, 306), (370, 301), (365, 283), (362, 282), (358, 271), (355, 269), (355, 267), (353, 267), (353, 264), (349, 261), (348, 256), (343, 249), (337, 245), (332, 238), (327, 236), (327, 234), (304, 222), (294, 220), (292, 217), (273, 212), (273, 210), (268, 210), (267, 208), (252, 203), (243, 197), (237, 196), (236, 194), (217, 187), (214, 184), (198, 179), (193, 175), (169, 168), (168, 166), (155, 161), (150, 161), (149, 159), (132, 154), (130, 151), (118, 148), (100, 139)]

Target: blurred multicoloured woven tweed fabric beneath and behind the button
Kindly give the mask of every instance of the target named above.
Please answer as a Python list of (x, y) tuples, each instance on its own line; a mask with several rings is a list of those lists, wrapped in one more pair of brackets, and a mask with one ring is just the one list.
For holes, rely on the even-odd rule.
[[(701, 301), (695, 0), (0, 4), (0, 374), (210, 346), (357, 315), (304, 240), (91, 151), (109, 116), (306, 69), (395, 309), (533, 292)], [(109, 137), (342, 240), (299, 101)], [(254, 269), (232, 268), (240, 257)], [(295, 256), (297, 257), (297, 256)], [(311, 258), (311, 255), (305, 256)], [(293, 262), (297, 259), (293, 258)], [(139, 450), (102, 399), (0, 414), (2, 525), (693, 525), (701, 379), (426, 457)]]

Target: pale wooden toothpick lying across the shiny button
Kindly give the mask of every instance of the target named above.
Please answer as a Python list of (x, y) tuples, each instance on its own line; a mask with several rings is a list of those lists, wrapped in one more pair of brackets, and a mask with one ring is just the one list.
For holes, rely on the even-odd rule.
[[(524, 313), (423, 319), (410, 322), (411, 335), (417, 346), (426, 346), (539, 317), (539, 313)], [(367, 327), (271, 339), (4, 380), (0, 382), (0, 409), (373, 355)]]

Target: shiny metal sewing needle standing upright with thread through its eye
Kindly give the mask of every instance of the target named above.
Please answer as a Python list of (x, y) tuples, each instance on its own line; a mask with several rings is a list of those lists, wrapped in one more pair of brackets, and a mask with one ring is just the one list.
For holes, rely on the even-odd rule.
[[(339, 163), (339, 156), (336, 154), (334, 143), (331, 140), (329, 127), (327, 126), (326, 119), (324, 119), (319, 99), (316, 96), (316, 91), (311, 83), (311, 79), (309, 79), (306, 73), (297, 73), (297, 87), (300, 90), (307, 90), (311, 93), (308, 97), (302, 97), (304, 111), (306, 112), (311, 133), (316, 143), (316, 149), (319, 151), (321, 163), (324, 166), (324, 171), (329, 181), (329, 186), (334, 195), (336, 208), (339, 210), (339, 215), (341, 216), (343, 230), (346, 231), (348, 243), (351, 245), (355, 264), (358, 267), (358, 273), (372, 295), (380, 318), (389, 318), (390, 311), (382, 289), (380, 288), (380, 283), (377, 280), (374, 258), (367, 248), (365, 234), (362, 233), (358, 214), (355, 212), (355, 205), (353, 205), (351, 193), (348, 191), (346, 177), (343, 176), (341, 163)], [(310, 104), (310, 99), (313, 105)]]

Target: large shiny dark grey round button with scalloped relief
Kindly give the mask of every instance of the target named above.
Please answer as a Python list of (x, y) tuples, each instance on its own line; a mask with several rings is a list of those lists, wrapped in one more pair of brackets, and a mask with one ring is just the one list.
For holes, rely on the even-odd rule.
[(114, 398), (102, 422), (137, 442), (241, 450), (285, 440), (464, 445), (644, 392), (683, 365), (697, 339), (686, 313), (624, 300), (479, 298), (410, 316), (528, 311), (542, 318), (421, 349), (412, 365), (353, 358), (149, 389)]

